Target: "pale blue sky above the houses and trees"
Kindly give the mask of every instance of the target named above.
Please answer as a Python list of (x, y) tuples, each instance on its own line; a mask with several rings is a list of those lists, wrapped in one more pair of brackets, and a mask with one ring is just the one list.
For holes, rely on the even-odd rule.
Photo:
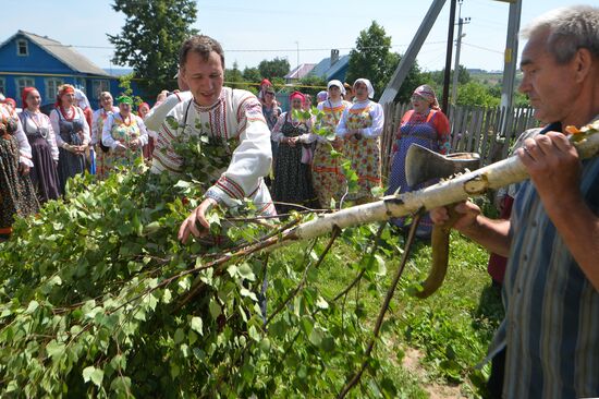
[[(599, 1), (587, 3), (597, 5)], [(111, 8), (110, 0), (2, 0), (0, 43), (19, 29), (48, 36), (78, 52), (100, 68), (121, 68), (111, 63), (113, 49), (107, 34), (119, 34), (125, 16)], [(558, 7), (578, 4), (575, 0), (524, 0), (521, 26)], [(366, 5), (368, 4), (368, 5)], [(331, 49), (349, 53), (360, 31), (372, 21), (391, 37), (392, 51), (403, 53), (416, 34), (432, 0), (303, 0), (234, 1), (198, 0), (193, 27), (219, 40), (224, 48), (227, 68), (233, 62), (243, 70), (262, 60), (288, 59), (318, 63)], [(418, 57), (425, 71), (444, 66), (450, 1), (445, 2)], [(509, 4), (496, 0), (463, 0), (460, 63), (468, 69), (503, 70)], [(455, 29), (454, 37), (457, 35)], [(519, 43), (518, 53), (523, 43)], [(453, 65), (453, 62), (452, 62)]]

